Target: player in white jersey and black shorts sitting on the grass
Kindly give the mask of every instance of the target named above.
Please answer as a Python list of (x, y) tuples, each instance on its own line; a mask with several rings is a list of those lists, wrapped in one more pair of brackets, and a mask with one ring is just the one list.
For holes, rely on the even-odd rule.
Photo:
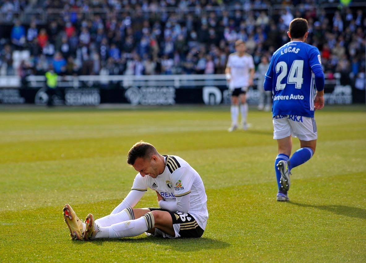
[[(130, 193), (111, 214), (85, 223), (71, 206), (63, 208), (71, 239), (94, 240), (138, 236), (144, 232), (169, 238), (201, 237), (208, 219), (207, 196), (199, 174), (178, 156), (160, 155), (147, 142), (137, 142), (127, 156), (138, 174)], [(132, 208), (150, 188), (159, 208)]]

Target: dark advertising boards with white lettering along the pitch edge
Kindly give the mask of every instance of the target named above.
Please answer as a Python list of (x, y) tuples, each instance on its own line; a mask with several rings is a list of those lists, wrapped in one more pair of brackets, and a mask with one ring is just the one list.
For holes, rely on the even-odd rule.
[[(172, 105), (172, 104), (229, 104), (230, 95), (225, 85), (202, 85), (197, 87), (180, 86), (132, 86), (121, 88), (119, 83), (108, 87), (59, 88), (53, 95), (55, 105), (99, 105), (101, 103), (129, 103), (132, 105)], [(99, 85), (100, 86), (100, 85)], [(352, 93), (354, 98), (352, 98)], [(250, 88), (248, 103), (257, 104), (259, 92)], [(356, 97), (355, 97), (356, 95)], [(37, 104), (44, 105), (48, 100), (46, 88), (2, 88), (2, 104)], [(365, 103), (365, 91), (353, 91), (350, 85), (326, 85), (326, 104)]]

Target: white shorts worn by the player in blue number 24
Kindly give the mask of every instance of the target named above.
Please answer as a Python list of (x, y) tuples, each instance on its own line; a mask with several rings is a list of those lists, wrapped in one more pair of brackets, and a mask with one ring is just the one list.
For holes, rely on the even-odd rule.
[(273, 139), (283, 139), (290, 135), (302, 141), (316, 140), (318, 133), (315, 119), (298, 115), (273, 117)]

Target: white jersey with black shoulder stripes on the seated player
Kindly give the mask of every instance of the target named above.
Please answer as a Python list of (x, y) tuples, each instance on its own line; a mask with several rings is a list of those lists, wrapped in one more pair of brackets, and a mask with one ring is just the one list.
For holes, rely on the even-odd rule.
[[(168, 202), (189, 194), (188, 213), (194, 216), (198, 225), (205, 230), (208, 219), (207, 195), (198, 172), (179, 156), (164, 155), (164, 172), (152, 178), (136, 175), (131, 190), (146, 191), (150, 188), (157, 191)], [(175, 211), (173, 211), (175, 212)]]

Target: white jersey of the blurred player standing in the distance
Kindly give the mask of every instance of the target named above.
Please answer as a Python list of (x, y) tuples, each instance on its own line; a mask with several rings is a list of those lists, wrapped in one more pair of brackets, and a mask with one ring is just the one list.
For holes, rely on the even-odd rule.
[(230, 68), (231, 74), (230, 89), (248, 87), (249, 71), (254, 69), (254, 60), (250, 54), (244, 53), (241, 57), (239, 57), (238, 52), (230, 54), (227, 67)]

